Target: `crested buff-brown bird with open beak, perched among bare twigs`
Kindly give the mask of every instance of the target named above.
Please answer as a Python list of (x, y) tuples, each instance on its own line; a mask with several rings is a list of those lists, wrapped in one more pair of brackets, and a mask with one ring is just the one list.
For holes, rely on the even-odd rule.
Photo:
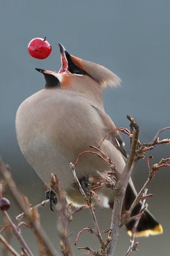
[[(69, 163), (75, 163), (79, 153), (89, 145), (99, 146), (104, 136), (116, 128), (106, 114), (103, 88), (116, 87), (120, 78), (99, 64), (70, 55), (59, 45), (61, 68), (58, 72), (36, 69), (44, 75), (45, 86), (21, 103), (16, 114), (16, 134), (21, 152), (40, 179), (49, 187), (51, 172), (58, 176), (68, 203), (75, 207), (85, 205), (84, 198), (74, 182)], [(116, 165), (120, 173), (128, 157), (125, 143), (118, 131), (110, 133), (100, 148)], [(110, 171), (108, 165), (92, 154), (79, 158), (76, 174), (81, 184), (88, 185), (96, 171)], [(50, 187), (49, 187), (50, 188)], [(96, 194), (104, 208), (111, 208), (114, 194), (111, 188), (100, 188)], [(137, 196), (130, 178), (123, 210), (128, 210)], [(98, 203), (98, 200), (96, 200)], [(132, 215), (139, 213), (138, 204)], [(122, 211), (123, 211), (122, 210)], [(132, 233), (134, 220), (126, 224)], [(162, 226), (146, 210), (135, 236), (161, 234)]]

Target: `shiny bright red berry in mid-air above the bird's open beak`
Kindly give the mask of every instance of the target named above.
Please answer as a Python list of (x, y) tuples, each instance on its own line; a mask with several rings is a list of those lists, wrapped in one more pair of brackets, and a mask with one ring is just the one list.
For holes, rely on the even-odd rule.
[(51, 45), (43, 38), (33, 38), (28, 44), (29, 54), (37, 59), (45, 59), (51, 53)]

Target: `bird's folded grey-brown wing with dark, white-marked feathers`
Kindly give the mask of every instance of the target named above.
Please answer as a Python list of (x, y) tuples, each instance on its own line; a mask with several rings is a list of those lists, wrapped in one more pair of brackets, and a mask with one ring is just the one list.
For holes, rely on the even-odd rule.
[[(103, 120), (103, 123), (106, 128), (105, 129), (106, 134), (109, 131), (116, 128), (112, 119), (104, 111), (100, 110), (99, 108), (97, 108), (95, 106), (92, 106), (92, 107), (95, 108), (96, 112), (100, 115), (101, 119)], [(120, 150), (120, 152), (123, 154), (124, 157), (126, 157), (126, 158), (128, 157), (128, 154), (125, 149), (125, 143), (118, 131), (113, 131), (112, 133), (109, 133), (107, 135), (107, 139), (110, 140), (114, 144), (114, 146)]]

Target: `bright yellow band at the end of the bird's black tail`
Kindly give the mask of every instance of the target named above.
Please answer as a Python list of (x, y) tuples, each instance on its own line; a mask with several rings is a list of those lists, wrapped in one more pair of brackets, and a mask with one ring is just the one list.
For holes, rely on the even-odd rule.
[[(127, 231), (129, 236), (132, 236), (132, 231), (128, 230)], [(135, 237), (148, 237), (148, 236), (154, 236), (154, 235), (160, 235), (163, 233), (163, 228), (162, 225), (159, 224), (155, 226), (153, 229), (147, 229), (147, 230), (142, 230), (142, 231), (137, 231), (135, 232)]]

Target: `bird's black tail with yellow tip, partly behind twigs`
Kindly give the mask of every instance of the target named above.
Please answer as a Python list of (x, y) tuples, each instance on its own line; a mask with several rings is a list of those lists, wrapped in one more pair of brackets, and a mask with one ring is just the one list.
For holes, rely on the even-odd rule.
[[(128, 184), (127, 189), (126, 189), (126, 194), (125, 194), (125, 200), (124, 200), (124, 209), (129, 210), (130, 206), (132, 205), (134, 199), (135, 199), (135, 194), (133, 192), (132, 187)], [(139, 213), (141, 204), (137, 204), (135, 208), (132, 211), (131, 216), (135, 216)], [(127, 228), (127, 233), (129, 235), (132, 234), (132, 229), (134, 226), (135, 220), (130, 221), (129, 223), (126, 224)], [(162, 234), (163, 228), (161, 224), (159, 224), (156, 219), (153, 217), (153, 215), (146, 210), (145, 211), (145, 216), (142, 216), (139, 220), (139, 224), (137, 226), (135, 236), (136, 237), (148, 237), (149, 235), (158, 235)]]

